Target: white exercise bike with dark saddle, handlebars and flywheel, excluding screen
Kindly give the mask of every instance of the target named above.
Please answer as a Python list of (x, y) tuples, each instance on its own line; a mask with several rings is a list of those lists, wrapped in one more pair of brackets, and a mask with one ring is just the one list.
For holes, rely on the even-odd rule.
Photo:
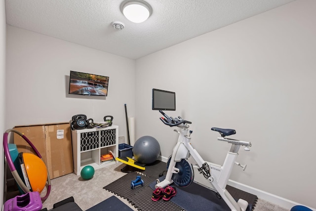
[[(189, 131), (188, 135), (188, 128), (192, 123), (181, 117), (169, 117), (161, 110), (159, 110), (159, 112), (163, 115), (163, 117), (160, 117), (160, 120), (165, 125), (170, 127), (177, 126), (180, 128), (180, 131), (174, 129), (175, 132), (179, 133), (179, 138), (173, 148), (172, 156), (168, 159), (166, 177), (161, 182), (157, 180), (155, 187), (164, 188), (171, 183), (175, 183), (180, 187), (186, 187), (194, 181), (195, 183), (214, 191), (219, 198), (222, 198), (225, 201), (232, 211), (245, 211), (248, 207), (248, 202), (243, 199), (238, 199), (236, 202), (226, 190), (226, 185), (232, 173), (234, 164), (241, 167), (243, 170), (246, 169), (246, 165), (237, 163), (236, 159), (240, 146), (245, 146), (244, 150), (249, 151), (251, 143), (225, 137), (236, 134), (235, 129), (212, 127), (211, 130), (221, 134), (221, 137), (218, 137), (217, 140), (226, 141), (232, 144), (232, 147), (227, 153), (222, 166), (204, 161), (190, 143), (192, 130)], [(196, 164), (192, 165), (188, 162), (190, 156), (192, 156)]]

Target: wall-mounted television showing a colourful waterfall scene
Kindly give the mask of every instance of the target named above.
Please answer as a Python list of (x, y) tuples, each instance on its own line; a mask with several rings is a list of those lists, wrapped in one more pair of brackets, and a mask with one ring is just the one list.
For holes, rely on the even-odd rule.
[(69, 94), (108, 95), (108, 76), (70, 71)]

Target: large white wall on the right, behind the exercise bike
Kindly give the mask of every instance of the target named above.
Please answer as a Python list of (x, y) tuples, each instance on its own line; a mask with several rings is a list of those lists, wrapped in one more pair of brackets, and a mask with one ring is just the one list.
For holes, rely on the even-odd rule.
[(136, 138), (152, 135), (161, 155), (177, 133), (151, 110), (152, 88), (176, 92), (205, 160), (222, 164), (230, 146), (211, 127), (251, 141), (231, 179), (316, 208), (316, 1), (299, 0), (136, 61)]

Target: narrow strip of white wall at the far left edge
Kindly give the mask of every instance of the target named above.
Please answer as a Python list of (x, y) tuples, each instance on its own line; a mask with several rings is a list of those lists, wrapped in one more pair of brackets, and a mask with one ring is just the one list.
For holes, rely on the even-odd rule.
[[(4, 112), (5, 112), (5, 6), (4, 1), (0, 3), (0, 131), (4, 131)], [(3, 142), (3, 137), (0, 135), (0, 143)], [(3, 170), (3, 145), (0, 144), (0, 190), (3, 190), (4, 170)], [(0, 192), (0, 205), (3, 204), (3, 191)], [(2, 207), (2, 206), (1, 206)], [(1, 208), (2, 210), (2, 208)]]

